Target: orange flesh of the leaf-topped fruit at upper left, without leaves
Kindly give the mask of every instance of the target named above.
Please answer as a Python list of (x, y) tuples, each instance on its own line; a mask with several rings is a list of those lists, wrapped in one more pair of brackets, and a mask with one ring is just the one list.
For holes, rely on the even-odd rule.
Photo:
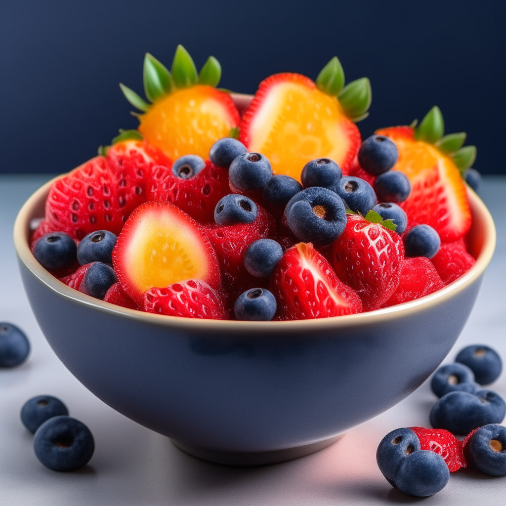
[(157, 100), (140, 117), (138, 130), (173, 160), (188, 154), (206, 160), (211, 146), (236, 126), (216, 94), (206, 85), (177, 90)]

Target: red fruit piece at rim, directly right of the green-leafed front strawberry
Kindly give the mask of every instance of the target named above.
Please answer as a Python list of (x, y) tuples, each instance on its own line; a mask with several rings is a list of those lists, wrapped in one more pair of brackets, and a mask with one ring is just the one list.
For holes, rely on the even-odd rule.
[(405, 258), (401, 263), (399, 285), (383, 307), (413, 301), (443, 287), (443, 281), (428, 258)]

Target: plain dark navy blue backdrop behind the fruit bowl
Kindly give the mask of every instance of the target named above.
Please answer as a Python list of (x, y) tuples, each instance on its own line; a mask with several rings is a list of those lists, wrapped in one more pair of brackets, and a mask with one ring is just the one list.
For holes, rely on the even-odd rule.
[(178, 43), (220, 86), (254, 93), (267, 75), (315, 78), (334, 55), (347, 81), (367, 75), (362, 135), (410, 123), (439, 105), (446, 131), (468, 132), (475, 167), (504, 174), (506, 3), (123, 2), (2, 0), (0, 172), (59, 173), (135, 128), (122, 81), (142, 92), (146, 51), (170, 67)]

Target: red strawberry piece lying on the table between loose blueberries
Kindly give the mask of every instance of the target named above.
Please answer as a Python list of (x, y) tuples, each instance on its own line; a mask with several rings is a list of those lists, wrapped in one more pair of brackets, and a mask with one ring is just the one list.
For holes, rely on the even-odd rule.
[(426, 429), (410, 427), (420, 440), (421, 450), (430, 450), (443, 457), (450, 473), (468, 466), (462, 451), (462, 444), (451, 433), (444, 429)]

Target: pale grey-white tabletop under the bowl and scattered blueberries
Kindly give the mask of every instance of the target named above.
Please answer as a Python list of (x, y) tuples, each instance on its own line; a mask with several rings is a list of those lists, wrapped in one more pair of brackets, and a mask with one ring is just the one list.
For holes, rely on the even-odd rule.
[[(12, 226), (24, 200), (49, 176), (0, 176), (0, 321), (25, 330), (32, 350), (13, 369), (0, 369), (0, 504), (2, 506), (305, 505), (416, 502), (393, 489), (375, 462), (381, 438), (397, 427), (429, 425), (436, 401), (428, 382), (387, 412), (349, 431), (332, 446), (289, 462), (237, 469), (214, 465), (178, 450), (167, 438), (117, 413), (97, 399), (58, 360), (44, 339), (18, 273)], [(451, 361), (463, 346), (484, 343), (506, 360), (506, 178), (486, 178), (480, 194), (497, 226), (497, 248), (481, 292)], [(72, 332), (72, 329), (69, 329)], [(492, 387), (506, 397), (506, 373)], [(34, 395), (61, 398), (95, 437), (89, 465), (71, 473), (46, 469), (19, 419)], [(424, 504), (506, 504), (506, 477), (471, 470), (450, 476), (446, 488)]]

